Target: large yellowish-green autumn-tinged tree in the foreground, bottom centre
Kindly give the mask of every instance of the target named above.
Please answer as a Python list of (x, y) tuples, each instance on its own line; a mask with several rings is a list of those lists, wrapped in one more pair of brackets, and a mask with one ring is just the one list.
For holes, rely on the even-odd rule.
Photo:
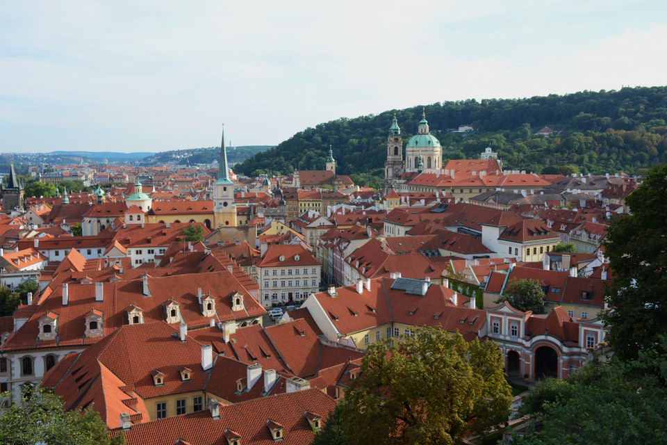
[[(454, 444), (507, 420), (511, 389), (493, 341), (437, 327), (373, 343), (345, 394), (349, 444)], [(326, 428), (326, 426), (325, 426)]]

